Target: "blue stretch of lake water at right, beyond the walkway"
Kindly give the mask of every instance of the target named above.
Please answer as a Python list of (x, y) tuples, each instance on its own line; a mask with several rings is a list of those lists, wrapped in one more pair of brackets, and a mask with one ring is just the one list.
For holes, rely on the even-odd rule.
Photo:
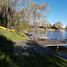
[(49, 39), (54, 39), (54, 40), (65, 40), (67, 39), (67, 32), (48, 32), (48, 37)]

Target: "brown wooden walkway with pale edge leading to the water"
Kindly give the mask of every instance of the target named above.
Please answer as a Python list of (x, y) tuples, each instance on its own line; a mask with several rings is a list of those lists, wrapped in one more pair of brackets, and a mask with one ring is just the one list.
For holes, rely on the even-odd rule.
[(30, 44), (32, 45), (41, 45), (41, 46), (67, 46), (67, 41), (58, 41), (58, 40), (30, 40)]

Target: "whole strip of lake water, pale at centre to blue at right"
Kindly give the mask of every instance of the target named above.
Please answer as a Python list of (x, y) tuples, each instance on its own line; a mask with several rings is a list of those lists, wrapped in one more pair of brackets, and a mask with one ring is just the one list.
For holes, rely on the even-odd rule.
[[(30, 33), (31, 36), (34, 34), (33, 32)], [(46, 35), (47, 34), (47, 35)], [(59, 31), (52, 31), (52, 32), (48, 32), (48, 33), (38, 33), (36, 36), (39, 36), (39, 37), (48, 37), (49, 39), (52, 39), (52, 40), (60, 40), (60, 41), (64, 41), (65, 39), (67, 39), (67, 32), (64, 31), (64, 32), (59, 32)]]

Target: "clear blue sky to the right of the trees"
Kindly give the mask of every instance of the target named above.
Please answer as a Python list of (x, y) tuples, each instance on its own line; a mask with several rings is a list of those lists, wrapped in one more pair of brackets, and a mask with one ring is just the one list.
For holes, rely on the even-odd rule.
[(67, 0), (34, 0), (34, 2), (49, 4), (50, 10), (47, 19), (51, 24), (60, 21), (63, 25), (67, 25)]

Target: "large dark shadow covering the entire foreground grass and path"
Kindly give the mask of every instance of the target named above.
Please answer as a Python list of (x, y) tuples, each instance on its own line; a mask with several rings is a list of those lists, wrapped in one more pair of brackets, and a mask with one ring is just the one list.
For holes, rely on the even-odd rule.
[[(0, 36), (0, 67), (67, 67), (67, 62), (55, 56), (49, 48), (15, 43)], [(23, 45), (23, 43), (22, 43)]]

